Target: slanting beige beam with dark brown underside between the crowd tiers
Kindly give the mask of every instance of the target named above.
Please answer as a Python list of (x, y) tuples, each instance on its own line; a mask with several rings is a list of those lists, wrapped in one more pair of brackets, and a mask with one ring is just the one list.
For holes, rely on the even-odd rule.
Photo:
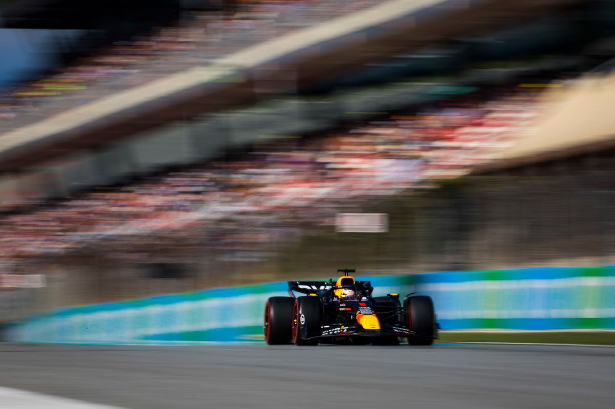
[(258, 96), (255, 84), (284, 69), (295, 69), (297, 82), (309, 84), (385, 56), (579, 1), (392, 0), (1, 134), (0, 171), (253, 101)]

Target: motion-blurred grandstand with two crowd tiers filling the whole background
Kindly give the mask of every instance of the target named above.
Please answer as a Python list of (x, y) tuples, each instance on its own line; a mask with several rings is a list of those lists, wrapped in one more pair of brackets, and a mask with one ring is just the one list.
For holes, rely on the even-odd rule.
[[(49, 275), (37, 308), (344, 263), (612, 262), (611, 2), (177, 16), (2, 90), (0, 268)], [(362, 211), (391, 231), (334, 233)]]

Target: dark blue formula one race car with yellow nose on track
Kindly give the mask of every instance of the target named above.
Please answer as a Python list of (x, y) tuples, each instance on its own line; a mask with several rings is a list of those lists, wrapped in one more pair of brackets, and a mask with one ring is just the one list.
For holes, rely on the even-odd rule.
[[(271, 297), (264, 312), (263, 331), (269, 345), (347, 343), (431, 345), (438, 338), (434, 303), (426, 295), (372, 297), (369, 281), (349, 273), (333, 282), (288, 281), (290, 297)], [(295, 297), (294, 292), (306, 294)]]

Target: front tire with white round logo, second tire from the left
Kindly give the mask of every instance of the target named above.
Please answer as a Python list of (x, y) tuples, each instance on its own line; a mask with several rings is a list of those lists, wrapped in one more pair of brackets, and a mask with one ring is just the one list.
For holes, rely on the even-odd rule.
[(295, 345), (318, 345), (320, 338), (312, 337), (320, 337), (322, 335), (320, 331), (321, 322), (322, 306), (320, 306), (320, 299), (318, 297), (296, 298), (291, 327), (291, 337)]

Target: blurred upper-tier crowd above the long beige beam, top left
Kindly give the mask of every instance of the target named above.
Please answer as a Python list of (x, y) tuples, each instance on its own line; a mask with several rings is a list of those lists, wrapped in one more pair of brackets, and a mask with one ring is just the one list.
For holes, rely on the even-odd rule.
[(193, 12), (175, 26), (117, 42), (53, 76), (0, 90), (0, 131), (376, 4), (378, 0), (250, 0), (234, 14)]

